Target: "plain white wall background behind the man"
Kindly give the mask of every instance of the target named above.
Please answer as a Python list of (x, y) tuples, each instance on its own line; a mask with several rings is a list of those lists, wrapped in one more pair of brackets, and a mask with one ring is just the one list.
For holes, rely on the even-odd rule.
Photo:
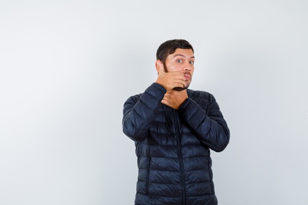
[(307, 205), (307, 0), (0, 0), (0, 205), (133, 205), (125, 100), (169, 39), (231, 132), (219, 205)]

